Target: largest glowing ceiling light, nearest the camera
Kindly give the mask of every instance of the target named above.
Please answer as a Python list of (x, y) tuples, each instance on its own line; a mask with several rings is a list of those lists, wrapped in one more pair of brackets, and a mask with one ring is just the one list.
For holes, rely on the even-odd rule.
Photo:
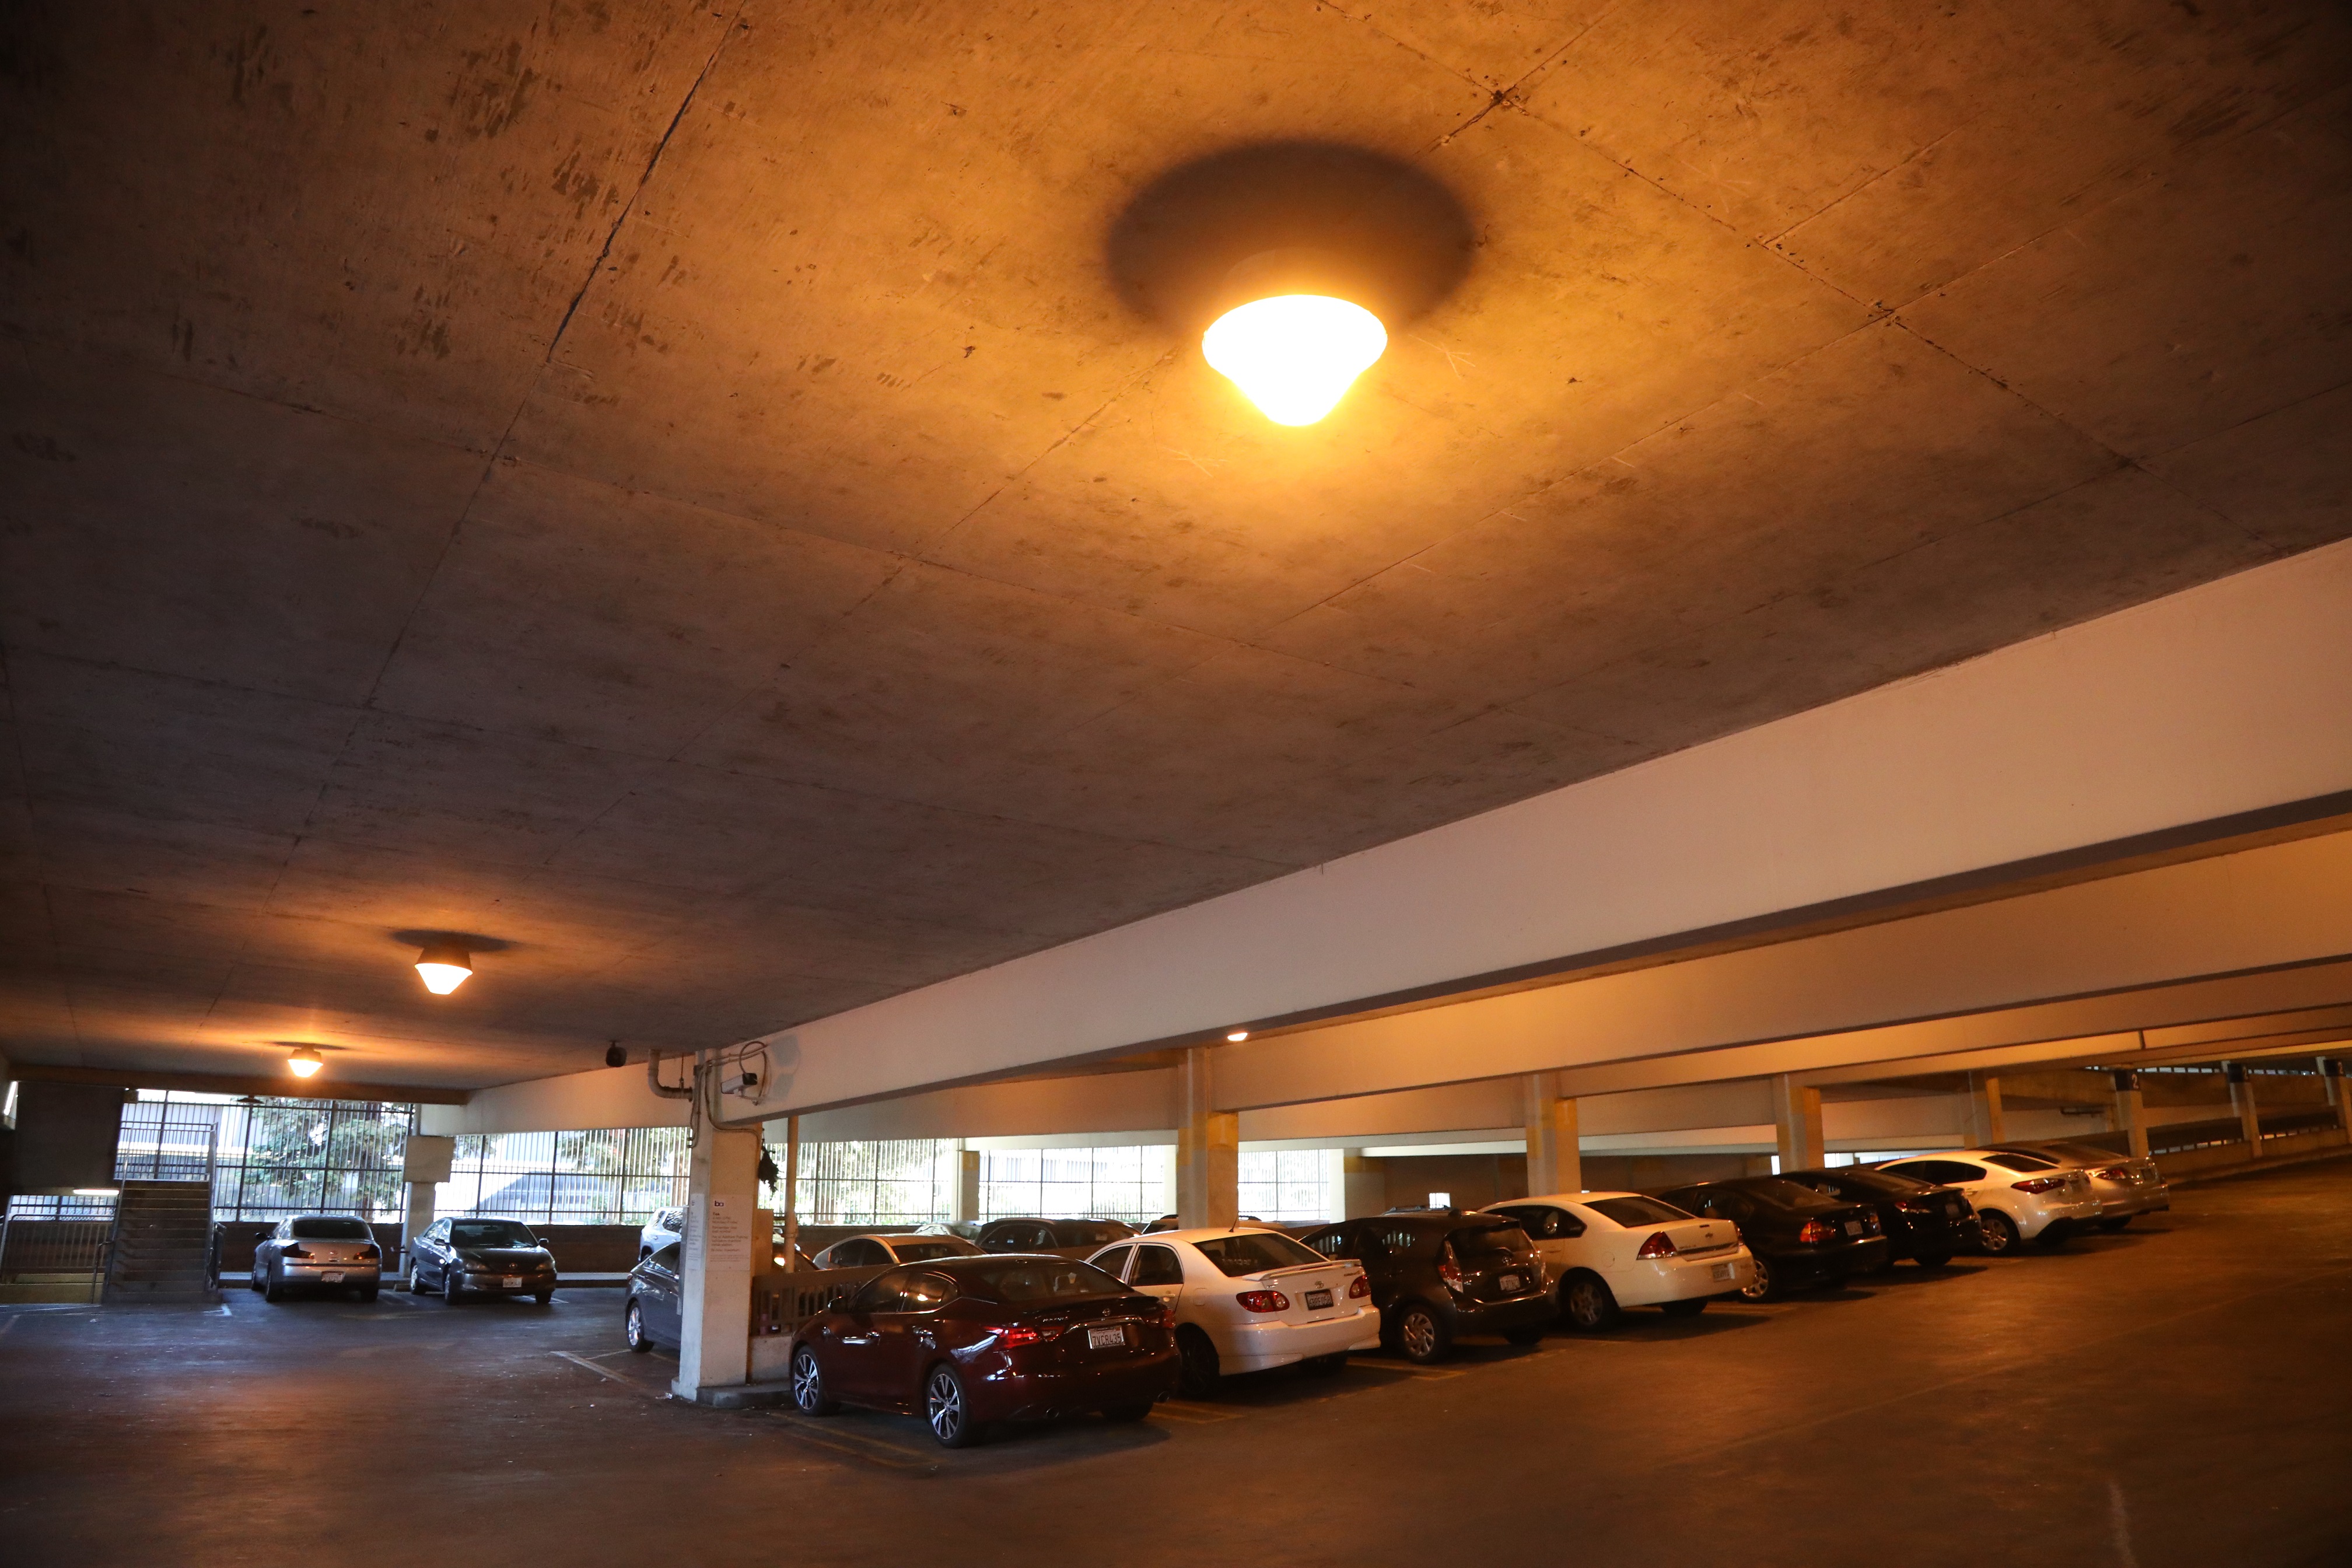
[(1277, 425), (1312, 425), (1388, 353), (1388, 327), (1352, 292), (1348, 268), (1315, 249), (1258, 252), (1225, 277), (1228, 299), (1200, 339), (1209, 364)]

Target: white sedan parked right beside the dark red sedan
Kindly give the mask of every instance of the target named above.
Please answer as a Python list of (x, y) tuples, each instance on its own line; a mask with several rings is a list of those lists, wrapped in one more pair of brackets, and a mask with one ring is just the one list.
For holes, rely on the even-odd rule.
[(1350, 1349), (1381, 1345), (1364, 1265), (1324, 1258), (1275, 1229), (1162, 1229), (1087, 1262), (1176, 1309), (1190, 1394), (1209, 1392), (1223, 1373), (1294, 1361), (1338, 1371)]

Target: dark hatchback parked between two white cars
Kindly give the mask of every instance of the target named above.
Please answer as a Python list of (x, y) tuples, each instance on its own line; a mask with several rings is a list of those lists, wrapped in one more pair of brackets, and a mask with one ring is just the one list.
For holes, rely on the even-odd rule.
[(1390, 1211), (1324, 1225), (1305, 1244), (1364, 1265), (1381, 1338), (1406, 1361), (1439, 1361), (1465, 1333), (1534, 1345), (1552, 1321), (1534, 1241), (1496, 1213)]

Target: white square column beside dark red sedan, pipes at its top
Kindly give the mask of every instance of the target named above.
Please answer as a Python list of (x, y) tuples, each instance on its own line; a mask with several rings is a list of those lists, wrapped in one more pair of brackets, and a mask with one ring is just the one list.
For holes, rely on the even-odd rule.
[[(760, 1208), (760, 1131), (710, 1124), (715, 1065), (694, 1067), (694, 1154), (687, 1164), (687, 1279), (677, 1382), (696, 1403), (746, 1401), (750, 1382), (750, 1260)], [(797, 1197), (797, 1194), (795, 1194)], [(764, 1237), (762, 1237), (764, 1241)]]

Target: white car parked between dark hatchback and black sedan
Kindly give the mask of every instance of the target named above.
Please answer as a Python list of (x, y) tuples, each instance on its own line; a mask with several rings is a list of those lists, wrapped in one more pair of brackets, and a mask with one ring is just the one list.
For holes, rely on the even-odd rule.
[(1559, 1300), (1569, 1328), (1592, 1333), (1618, 1321), (1618, 1307), (1658, 1307), (1668, 1316), (1705, 1312), (1755, 1276), (1755, 1258), (1726, 1220), (1700, 1220), (1639, 1192), (1552, 1192), (1489, 1204), (1484, 1213), (1517, 1220)]

